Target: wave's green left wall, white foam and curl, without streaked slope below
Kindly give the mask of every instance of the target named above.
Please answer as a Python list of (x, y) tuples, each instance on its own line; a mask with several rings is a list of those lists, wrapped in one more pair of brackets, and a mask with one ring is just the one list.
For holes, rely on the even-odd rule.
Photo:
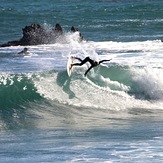
[[(108, 109), (129, 108), (131, 103), (137, 103), (136, 100), (163, 100), (161, 68), (101, 65), (84, 77), (86, 69), (86, 66), (74, 68), (71, 77), (66, 70), (1, 74), (0, 108), (17, 107), (43, 98), (68, 105)], [(126, 104), (126, 100), (131, 103)]]

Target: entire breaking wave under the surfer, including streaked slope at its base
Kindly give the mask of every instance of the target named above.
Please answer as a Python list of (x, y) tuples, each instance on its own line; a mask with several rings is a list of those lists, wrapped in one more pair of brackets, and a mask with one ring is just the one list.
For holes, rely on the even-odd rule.
[[(0, 75), (0, 130), (54, 126), (69, 116), (80, 120), (112, 111), (141, 114), (162, 110), (162, 69), (101, 65), (66, 70)], [(160, 74), (161, 73), (161, 74)], [(68, 115), (67, 115), (68, 114)], [(72, 123), (73, 120), (69, 120)], [(36, 124), (35, 124), (36, 123)], [(39, 124), (41, 123), (41, 124)]]

